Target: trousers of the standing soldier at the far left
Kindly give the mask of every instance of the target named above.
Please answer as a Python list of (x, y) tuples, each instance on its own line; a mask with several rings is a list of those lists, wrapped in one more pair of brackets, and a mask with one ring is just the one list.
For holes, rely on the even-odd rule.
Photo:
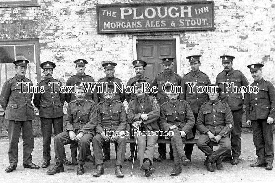
[(33, 139), (33, 122), (8, 120), (8, 136), (9, 136), (9, 164), (17, 165), (18, 162), (18, 142), (20, 131), (22, 128), (23, 139), (23, 164), (32, 162), (34, 139)]

